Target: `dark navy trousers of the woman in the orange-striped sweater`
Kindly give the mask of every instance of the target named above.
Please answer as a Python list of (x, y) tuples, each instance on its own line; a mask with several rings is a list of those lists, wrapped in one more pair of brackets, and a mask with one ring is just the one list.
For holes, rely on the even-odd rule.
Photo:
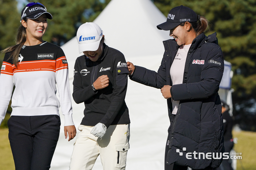
[(11, 116), (9, 140), (15, 170), (49, 170), (60, 134), (60, 117)]

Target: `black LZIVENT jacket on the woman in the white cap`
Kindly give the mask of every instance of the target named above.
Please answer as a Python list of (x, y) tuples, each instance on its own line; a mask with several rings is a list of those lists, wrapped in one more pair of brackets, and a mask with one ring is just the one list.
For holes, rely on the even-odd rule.
[[(73, 98), (84, 102), (84, 117), (81, 124), (95, 126), (103, 123), (108, 128), (113, 124), (129, 124), (128, 107), (125, 104), (128, 68), (124, 55), (103, 44), (102, 56), (93, 62), (85, 55), (76, 59), (74, 69)], [(92, 84), (99, 76), (108, 75), (109, 86), (94, 91)]]

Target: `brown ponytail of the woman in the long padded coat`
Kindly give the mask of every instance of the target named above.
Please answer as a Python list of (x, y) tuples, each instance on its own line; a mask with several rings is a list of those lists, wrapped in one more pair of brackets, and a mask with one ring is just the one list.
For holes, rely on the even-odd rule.
[[(196, 32), (196, 36), (200, 35), (201, 33), (203, 33), (204, 31), (206, 31), (208, 29), (208, 25), (209, 25), (209, 21), (203, 17), (203, 16), (199, 16), (197, 15), (197, 17), (200, 17), (199, 20), (197, 22), (192, 22), (191, 27), (195, 30)], [(181, 23), (181, 26), (184, 26), (185, 23)]]

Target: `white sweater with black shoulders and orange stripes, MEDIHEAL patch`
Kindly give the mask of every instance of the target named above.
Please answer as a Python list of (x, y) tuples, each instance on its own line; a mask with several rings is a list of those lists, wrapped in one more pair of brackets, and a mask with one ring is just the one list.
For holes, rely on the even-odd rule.
[[(0, 123), (12, 96), (11, 116), (59, 115), (64, 126), (74, 125), (68, 80), (68, 63), (63, 50), (52, 43), (23, 46), (17, 68), (4, 56), (0, 74)], [(57, 99), (56, 84), (59, 99)], [(13, 86), (15, 86), (12, 95)]]

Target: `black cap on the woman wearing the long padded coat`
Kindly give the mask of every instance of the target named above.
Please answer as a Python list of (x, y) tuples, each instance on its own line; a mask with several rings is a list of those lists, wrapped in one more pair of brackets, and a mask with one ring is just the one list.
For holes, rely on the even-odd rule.
[(189, 23), (196, 22), (198, 19), (199, 17), (197, 17), (196, 13), (192, 9), (180, 5), (171, 9), (166, 22), (157, 25), (157, 28), (168, 31), (177, 27), (181, 23), (185, 23), (186, 21)]

